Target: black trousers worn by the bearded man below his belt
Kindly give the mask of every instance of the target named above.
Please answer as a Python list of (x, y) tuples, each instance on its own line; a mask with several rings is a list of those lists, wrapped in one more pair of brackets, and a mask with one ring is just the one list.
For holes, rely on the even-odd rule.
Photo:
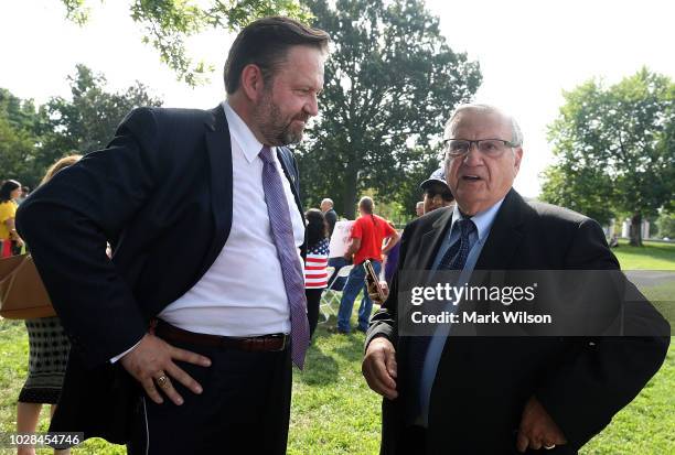
[(172, 381), (184, 403), (140, 397), (130, 455), (285, 454), (291, 398), (290, 348), (246, 353), (170, 342), (202, 354), (211, 367), (178, 362), (202, 384), (195, 394)]

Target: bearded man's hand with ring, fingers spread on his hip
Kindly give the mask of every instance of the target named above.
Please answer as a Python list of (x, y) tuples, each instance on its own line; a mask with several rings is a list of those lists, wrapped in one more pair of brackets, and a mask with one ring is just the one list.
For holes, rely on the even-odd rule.
[(182, 360), (201, 367), (211, 366), (208, 358), (173, 347), (151, 334), (146, 334), (140, 343), (120, 359), (120, 362), (129, 375), (141, 383), (152, 401), (158, 404), (164, 401), (158, 390), (160, 389), (175, 404), (183, 404), (183, 398), (175, 391), (170, 378), (178, 380), (194, 393), (202, 393), (202, 386), (179, 368), (173, 360)]

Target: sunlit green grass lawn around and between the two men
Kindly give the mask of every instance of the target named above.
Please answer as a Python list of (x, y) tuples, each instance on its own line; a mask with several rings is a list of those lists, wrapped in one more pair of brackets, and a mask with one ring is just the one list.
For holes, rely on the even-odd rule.
[[(613, 250), (624, 270), (675, 270), (675, 245), (625, 243)], [(662, 300), (663, 291), (656, 296)], [(667, 293), (667, 291), (666, 291)], [(673, 295), (667, 296), (668, 300)], [(379, 398), (361, 376), (364, 335), (332, 335), (320, 325), (303, 373), (294, 373), (288, 453), (376, 454), (379, 448)], [(22, 322), (0, 321), (0, 432), (14, 431), (15, 399), (28, 364)], [(583, 449), (585, 455), (675, 454), (675, 348), (640, 396)], [(579, 410), (583, 412), (583, 410)], [(40, 431), (45, 431), (43, 412)], [(2, 453), (2, 449), (0, 449)], [(9, 452), (8, 452), (9, 453)], [(50, 454), (41, 449), (39, 454)], [(125, 454), (124, 447), (87, 441), (72, 452)]]

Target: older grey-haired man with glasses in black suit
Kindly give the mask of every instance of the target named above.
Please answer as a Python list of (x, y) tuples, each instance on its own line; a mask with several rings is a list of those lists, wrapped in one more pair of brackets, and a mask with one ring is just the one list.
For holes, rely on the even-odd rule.
[(366, 337), (363, 373), (385, 397), (382, 454), (576, 454), (658, 370), (668, 323), (644, 301), (621, 319), (644, 336), (495, 337), (475, 326), (478, 336), (459, 336), (454, 324), (406, 336), (404, 299), (416, 285), (406, 273), (428, 285), (427, 271), (619, 270), (598, 223), (513, 189), (523, 134), (512, 117), (461, 106), (444, 138), (457, 206), (406, 227), (392, 292)]

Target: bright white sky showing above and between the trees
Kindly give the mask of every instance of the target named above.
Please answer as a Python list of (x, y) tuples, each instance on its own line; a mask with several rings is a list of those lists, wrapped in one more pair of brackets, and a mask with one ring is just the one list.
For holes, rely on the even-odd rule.
[[(210, 84), (191, 89), (140, 42), (127, 2), (90, 2), (92, 21), (78, 28), (64, 19), (58, 0), (21, 0), (0, 6), (0, 87), (42, 104), (68, 96), (66, 76), (83, 63), (107, 77), (110, 89), (138, 79), (164, 106), (211, 108), (224, 96), (222, 66), (232, 36), (210, 32), (190, 42), (195, 57), (216, 67)], [(590, 77), (609, 83), (646, 65), (675, 79), (675, 3), (666, 0), (428, 0), (456, 52), (478, 59), (483, 85), (476, 100), (519, 119), (525, 158), (516, 188), (539, 192), (538, 173), (551, 160), (546, 126), (570, 90)]]

